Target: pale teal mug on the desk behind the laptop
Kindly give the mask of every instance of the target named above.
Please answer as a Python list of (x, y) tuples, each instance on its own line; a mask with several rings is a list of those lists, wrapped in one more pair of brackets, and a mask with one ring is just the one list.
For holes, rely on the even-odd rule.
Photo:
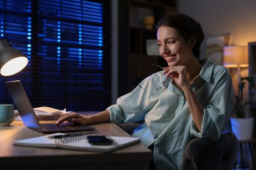
[(0, 104), (0, 126), (10, 126), (14, 120), (14, 106)]

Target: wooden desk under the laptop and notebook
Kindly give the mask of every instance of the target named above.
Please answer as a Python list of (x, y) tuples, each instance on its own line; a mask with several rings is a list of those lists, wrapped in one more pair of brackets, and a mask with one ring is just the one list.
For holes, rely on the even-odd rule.
[[(44, 121), (51, 122), (51, 121)], [(93, 125), (102, 135), (129, 136), (114, 123)], [(25, 127), (21, 121), (0, 127), (0, 169), (149, 169), (152, 152), (142, 144), (133, 144), (109, 154), (13, 146), (18, 139), (43, 135)]]

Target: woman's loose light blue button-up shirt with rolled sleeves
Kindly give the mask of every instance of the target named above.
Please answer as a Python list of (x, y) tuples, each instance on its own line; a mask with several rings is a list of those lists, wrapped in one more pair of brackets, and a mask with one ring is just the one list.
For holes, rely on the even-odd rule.
[[(205, 61), (205, 59), (203, 60)], [(165, 78), (163, 71), (145, 78), (140, 88), (117, 99), (108, 107), (110, 122), (127, 123), (144, 120), (133, 137), (140, 137), (144, 146), (154, 144), (157, 169), (181, 169), (186, 144), (194, 137), (217, 141), (228, 122), (234, 104), (234, 90), (228, 70), (206, 59), (199, 76), (190, 82), (192, 90), (203, 106), (201, 132), (192, 120), (184, 93), (169, 82), (161, 95), (152, 97)]]

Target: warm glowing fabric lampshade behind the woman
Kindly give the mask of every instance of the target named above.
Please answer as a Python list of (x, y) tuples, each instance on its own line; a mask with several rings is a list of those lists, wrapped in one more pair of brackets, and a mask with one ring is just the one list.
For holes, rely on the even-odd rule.
[(224, 46), (223, 65), (225, 67), (248, 67), (247, 46)]

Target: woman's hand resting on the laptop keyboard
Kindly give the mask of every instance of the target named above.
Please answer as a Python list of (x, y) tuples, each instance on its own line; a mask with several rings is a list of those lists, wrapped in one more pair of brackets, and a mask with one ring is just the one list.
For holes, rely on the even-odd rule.
[(65, 121), (68, 121), (68, 122), (71, 122), (71, 123), (74, 123), (74, 124), (81, 124), (81, 125), (87, 125), (88, 124), (88, 120), (87, 118), (77, 114), (76, 112), (72, 112), (68, 115), (64, 115), (64, 116), (61, 116), (56, 124), (61, 124), (62, 122), (65, 122)]

